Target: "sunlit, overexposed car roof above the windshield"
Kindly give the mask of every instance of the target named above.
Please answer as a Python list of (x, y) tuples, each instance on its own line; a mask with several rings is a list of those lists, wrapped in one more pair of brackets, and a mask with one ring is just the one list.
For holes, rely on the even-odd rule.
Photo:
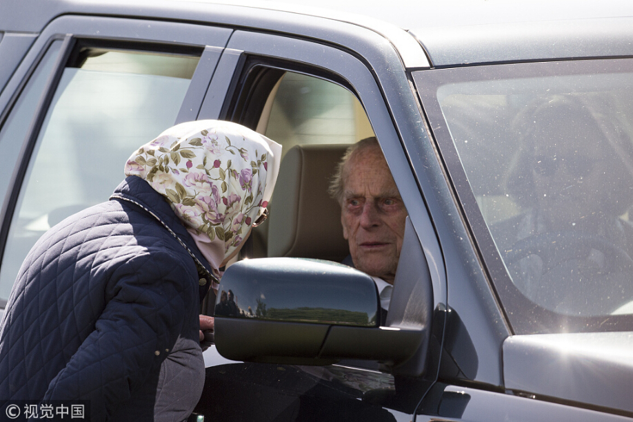
[(407, 30), (434, 67), (633, 55), (632, 1), (321, 0), (319, 7)]

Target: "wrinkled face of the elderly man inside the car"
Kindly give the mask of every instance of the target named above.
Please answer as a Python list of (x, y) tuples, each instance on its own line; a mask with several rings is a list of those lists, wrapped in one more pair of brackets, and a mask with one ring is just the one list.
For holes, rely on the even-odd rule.
[(341, 224), (354, 266), (393, 284), (407, 211), (379, 147), (356, 151), (344, 174)]

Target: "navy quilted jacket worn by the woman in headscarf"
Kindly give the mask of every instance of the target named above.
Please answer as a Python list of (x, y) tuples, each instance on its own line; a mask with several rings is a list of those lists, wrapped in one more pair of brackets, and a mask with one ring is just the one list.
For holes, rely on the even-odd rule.
[(204, 383), (211, 277), (163, 197), (126, 178), (26, 257), (0, 328), (0, 402), (87, 400), (93, 422), (185, 419)]

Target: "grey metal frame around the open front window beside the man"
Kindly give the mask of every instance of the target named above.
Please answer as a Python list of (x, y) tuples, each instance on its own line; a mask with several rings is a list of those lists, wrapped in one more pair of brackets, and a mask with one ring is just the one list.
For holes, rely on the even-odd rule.
[[(218, 70), (212, 79), (199, 118), (223, 119), (232, 118), (234, 112), (239, 114), (239, 110), (231, 109), (230, 105), (234, 101), (237, 91), (241, 89), (238, 81), (241, 81), (243, 74), (249, 70), (245, 67), (245, 63), (257, 61), (253, 59), (257, 57), (261, 58), (263, 63), (266, 61), (288, 63), (288, 67), (285, 67), (285, 70), (288, 71), (297, 72), (301, 69), (299, 72), (305, 73), (307, 68), (312, 67), (314, 72), (310, 76), (328, 78), (329, 74), (329, 81), (347, 89), (352, 88), (352, 93), (359, 99), (368, 114), (374, 133), (379, 139), (385, 158), (392, 169), (396, 185), (401, 192), (410, 193), (403, 195), (403, 201), (409, 210), (410, 220), (429, 264), (428, 271), (432, 280), (434, 308), (440, 310), (434, 318), (434, 324), (436, 324), (434, 330), (436, 333), (440, 333), (437, 340), (441, 342), (445, 319), (445, 313), (441, 310), (445, 310), (446, 304), (443, 258), (424, 198), (420, 194), (419, 184), (414, 178), (414, 172), (411, 170), (402, 143), (403, 127), (414, 132), (416, 138), (424, 138), (425, 131), (420, 130), (422, 127), (420, 124), (421, 114), (419, 107), (412, 106), (415, 104), (412, 93), (408, 95), (395, 92), (392, 97), (396, 103), (390, 103), (392, 99), (388, 98), (385, 92), (390, 90), (390, 87), (391, 91), (394, 92), (394, 78), (390, 78), (389, 75), (381, 75), (381, 80), (376, 72), (377, 69), (381, 69), (397, 73), (401, 78), (405, 78), (402, 61), (386, 39), (369, 31), (365, 36), (368, 39), (363, 40), (363, 42), (373, 43), (374, 48), (390, 52), (390, 54), (384, 54), (384, 51), (380, 53), (374, 51), (372, 54), (368, 54), (368, 56), (374, 56), (376, 60), (380, 60), (380, 65), (367, 63), (367, 56), (359, 56), (352, 48), (341, 47), (343, 40), (334, 44), (325, 41), (298, 39), (296, 36), (236, 30), (221, 56)], [(369, 46), (365, 45), (364, 48), (367, 49)], [(384, 63), (385, 60), (390, 61), (390, 63)], [(398, 78), (395, 79), (398, 80)], [(404, 106), (403, 103), (408, 106)], [(401, 116), (396, 119), (394, 109), (405, 109), (410, 113), (398, 112)], [(396, 123), (401, 120), (414, 121), (417, 124)], [(225, 359), (218, 357), (217, 352), (213, 349), (206, 353), (208, 366), (227, 363)], [(210, 355), (214, 356), (210, 357)], [(436, 366), (439, 359), (432, 358), (430, 361), (432, 361), (428, 366), (430, 370), (425, 376), (425, 380), (430, 381), (427, 386), (430, 386), (436, 379)], [(421, 399), (423, 395), (424, 391), (419, 392), (418, 398)]]

